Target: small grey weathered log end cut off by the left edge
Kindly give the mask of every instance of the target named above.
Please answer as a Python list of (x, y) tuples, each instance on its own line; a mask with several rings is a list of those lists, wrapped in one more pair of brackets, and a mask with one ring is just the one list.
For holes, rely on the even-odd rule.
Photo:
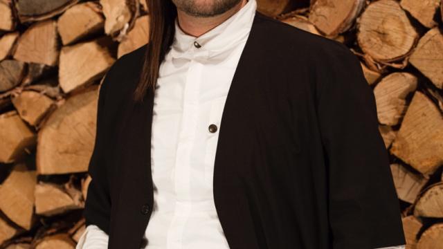
[(8, 91), (18, 86), (26, 73), (26, 65), (14, 59), (4, 59), (0, 62), (0, 92)]

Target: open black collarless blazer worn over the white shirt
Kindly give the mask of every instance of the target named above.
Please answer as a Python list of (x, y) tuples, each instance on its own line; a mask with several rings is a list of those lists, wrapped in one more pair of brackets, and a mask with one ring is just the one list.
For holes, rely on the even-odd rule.
[[(100, 87), (84, 216), (109, 248), (141, 248), (152, 212), (154, 95), (130, 100), (145, 49)], [(220, 127), (213, 187), (230, 248), (406, 243), (374, 95), (343, 44), (256, 12)]]

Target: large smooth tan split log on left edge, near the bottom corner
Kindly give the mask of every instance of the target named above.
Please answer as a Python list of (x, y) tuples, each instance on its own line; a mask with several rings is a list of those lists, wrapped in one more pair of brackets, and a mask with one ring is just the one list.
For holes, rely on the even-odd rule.
[(33, 216), (34, 190), (37, 176), (26, 165), (17, 164), (0, 186), (0, 210), (26, 230), (36, 221)]

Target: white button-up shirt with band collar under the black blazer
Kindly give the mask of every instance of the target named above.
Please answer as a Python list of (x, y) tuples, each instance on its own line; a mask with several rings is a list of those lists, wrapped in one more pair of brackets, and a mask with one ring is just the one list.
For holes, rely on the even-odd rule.
[[(257, 3), (200, 37), (175, 37), (154, 95), (151, 163), (154, 207), (147, 249), (227, 249), (213, 198), (215, 151), (226, 96), (251, 30)], [(76, 249), (107, 248), (108, 236), (88, 225)], [(393, 248), (393, 247), (392, 247)], [(403, 248), (403, 247), (401, 247)]]

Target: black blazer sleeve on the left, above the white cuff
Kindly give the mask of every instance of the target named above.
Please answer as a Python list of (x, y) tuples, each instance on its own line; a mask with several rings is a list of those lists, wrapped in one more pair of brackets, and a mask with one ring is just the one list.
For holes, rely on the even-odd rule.
[(89, 160), (88, 173), (92, 180), (87, 190), (87, 199), (84, 204), (84, 219), (86, 225), (97, 225), (106, 234), (109, 234), (109, 219), (111, 213), (111, 198), (109, 193), (108, 167), (106, 161), (107, 142), (107, 88), (109, 87), (111, 69), (105, 75), (98, 93), (96, 118), (96, 138), (93, 153)]

